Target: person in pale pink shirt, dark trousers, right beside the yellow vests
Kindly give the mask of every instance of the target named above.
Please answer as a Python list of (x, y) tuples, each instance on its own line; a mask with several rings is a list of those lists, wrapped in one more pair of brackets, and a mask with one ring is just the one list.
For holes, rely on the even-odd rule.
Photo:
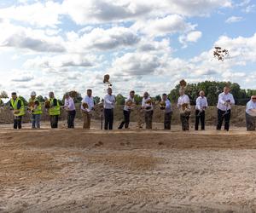
[(68, 93), (65, 94), (64, 108), (67, 111), (67, 128), (74, 128), (74, 118), (76, 117), (76, 107), (73, 98)]

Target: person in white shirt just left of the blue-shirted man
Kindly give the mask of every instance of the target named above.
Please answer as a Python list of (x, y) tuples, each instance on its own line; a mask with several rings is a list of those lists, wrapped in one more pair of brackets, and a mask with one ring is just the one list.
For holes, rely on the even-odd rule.
[(143, 95), (142, 109), (145, 112), (146, 129), (152, 130), (152, 118), (153, 118), (153, 102), (148, 94), (145, 92)]

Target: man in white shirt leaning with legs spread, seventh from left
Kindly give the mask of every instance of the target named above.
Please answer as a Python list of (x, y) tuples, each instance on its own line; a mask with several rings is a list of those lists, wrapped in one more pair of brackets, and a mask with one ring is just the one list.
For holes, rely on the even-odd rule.
[(135, 92), (132, 90), (130, 92), (129, 97), (127, 99), (125, 99), (125, 107), (124, 107), (124, 111), (123, 111), (124, 112), (124, 120), (119, 125), (119, 129), (122, 129), (124, 124), (125, 124), (125, 129), (127, 129), (129, 127), (131, 110), (135, 107), (134, 95), (135, 95)]

